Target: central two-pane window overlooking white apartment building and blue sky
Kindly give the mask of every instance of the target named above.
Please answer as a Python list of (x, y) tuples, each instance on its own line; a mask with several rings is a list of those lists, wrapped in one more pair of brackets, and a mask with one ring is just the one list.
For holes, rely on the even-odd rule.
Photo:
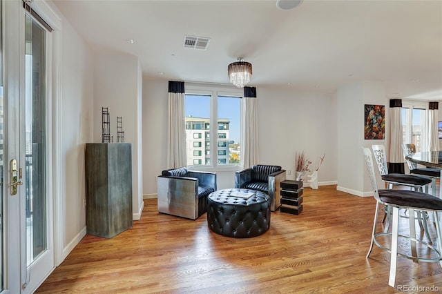
[[(206, 86), (186, 87), (184, 111), (188, 166), (197, 162), (213, 168), (240, 164), (241, 98), (242, 89), (227, 92)], [(216, 128), (210, 128), (211, 124)], [(192, 130), (204, 130), (204, 135), (201, 133), (201, 137), (195, 137)], [(201, 147), (204, 159), (198, 161), (194, 157), (200, 153), (195, 153), (194, 148)]]

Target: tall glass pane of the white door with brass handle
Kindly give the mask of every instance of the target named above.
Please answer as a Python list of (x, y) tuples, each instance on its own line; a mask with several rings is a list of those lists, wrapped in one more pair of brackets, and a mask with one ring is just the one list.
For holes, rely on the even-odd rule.
[[(46, 30), (26, 13), (25, 41), (26, 283), (30, 266), (48, 250), (46, 197)], [(23, 161), (22, 161), (23, 162)]]

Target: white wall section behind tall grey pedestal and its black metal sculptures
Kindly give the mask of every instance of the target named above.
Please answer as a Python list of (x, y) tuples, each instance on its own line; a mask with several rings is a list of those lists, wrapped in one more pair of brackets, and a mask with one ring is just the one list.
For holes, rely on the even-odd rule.
[(102, 142), (102, 107), (107, 107), (111, 136), (117, 141), (117, 116), (122, 117), (125, 143), (132, 144), (133, 219), (140, 219), (142, 202), (142, 78), (138, 57), (99, 50), (94, 55), (94, 142)]

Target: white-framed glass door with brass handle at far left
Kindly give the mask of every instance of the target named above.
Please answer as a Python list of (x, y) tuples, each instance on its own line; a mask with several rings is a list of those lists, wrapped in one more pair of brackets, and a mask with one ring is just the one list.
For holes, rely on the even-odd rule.
[(10, 293), (35, 292), (55, 266), (52, 189), (47, 177), (52, 170), (48, 148), (52, 131), (47, 124), (52, 37), (30, 8), (41, 3), (3, 1), (4, 139), (8, 144), (3, 174), (6, 185), (1, 190), (6, 215), (1, 252), (6, 253), (2, 286)]

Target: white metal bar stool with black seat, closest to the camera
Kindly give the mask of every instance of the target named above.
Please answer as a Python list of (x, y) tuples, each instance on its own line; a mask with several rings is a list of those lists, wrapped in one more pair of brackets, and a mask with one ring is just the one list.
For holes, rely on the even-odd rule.
[[(442, 212), (442, 199), (439, 199), (438, 197), (434, 197), (433, 195), (427, 194), (427, 193), (421, 193), (415, 190), (399, 190), (399, 189), (378, 189), (378, 184), (376, 182), (376, 175), (374, 174), (374, 165), (373, 165), (373, 159), (372, 159), (372, 153), (370, 152), (369, 148), (363, 148), (363, 153), (365, 157), (365, 164), (367, 165), (367, 170), (369, 172), (370, 182), (372, 183), (373, 192), (374, 192), (374, 199), (376, 199), (376, 210), (374, 213), (374, 222), (373, 222), (373, 230), (372, 230), (372, 240), (370, 243), (370, 247), (367, 253), (366, 258), (369, 257), (370, 253), (373, 249), (373, 244), (376, 244), (376, 246), (383, 248), (391, 253), (390, 257), (390, 277), (388, 280), (388, 284), (392, 287), (394, 287), (394, 284), (396, 282), (396, 268), (397, 268), (397, 255), (401, 255), (407, 258), (419, 260), (421, 262), (439, 262), (439, 264), (442, 266), (441, 262), (441, 248), (442, 248), (442, 242), (441, 242), (441, 229), (439, 226), (439, 212)], [(393, 210), (393, 222), (392, 222), (392, 233), (376, 233), (376, 220), (378, 219), (378, 213), (379, 213), (379, 206), (380, 204), (384, 204), (386, 206), (389, 206)], [(399, 225), (399, 209), (405, 208), (410, 211), (410, 236), (408, 237), (411, 241), (411, 251), (412, 255), (407, 255), (404, 253), (398, 253), (398, 225)], [(425, 243), (423, 241), (420, 241), (415, 238), (415, 232), (414, 232), (414, 210), (422, 210), (427, 212), (433, 212), (434, 217), (436, 218), (436, 233), (437, 233), (437, 248)], [(380, 235), (391, 235), (391, 244), (390, 248), (387, 248), (387, 246), (384, 246), (381, 244), (381, 242), (378, 242), (376, 240), (376, 237)], [(401, 235), (401, 237), (407, 237)], [(419, 242), (428, 248), (430, 250), (434, 251), (437, 256), (430, 258), (430, 257), (420, 257), (417, 255), (416, 251), (416, 242)]]

